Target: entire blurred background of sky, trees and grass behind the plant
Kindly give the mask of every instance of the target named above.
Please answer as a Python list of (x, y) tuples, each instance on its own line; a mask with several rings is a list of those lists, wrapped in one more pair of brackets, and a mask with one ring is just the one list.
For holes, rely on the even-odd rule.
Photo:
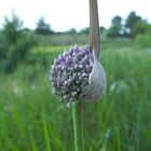
[[(98, 0), (108, 84), (84, 105), (86, 151), (151, 150), (149, 0)], [(88, 43), (88, 0), (0, 2), (0, 150), (73, 151), (71, 109), (51, 93), (55, 57)]]

